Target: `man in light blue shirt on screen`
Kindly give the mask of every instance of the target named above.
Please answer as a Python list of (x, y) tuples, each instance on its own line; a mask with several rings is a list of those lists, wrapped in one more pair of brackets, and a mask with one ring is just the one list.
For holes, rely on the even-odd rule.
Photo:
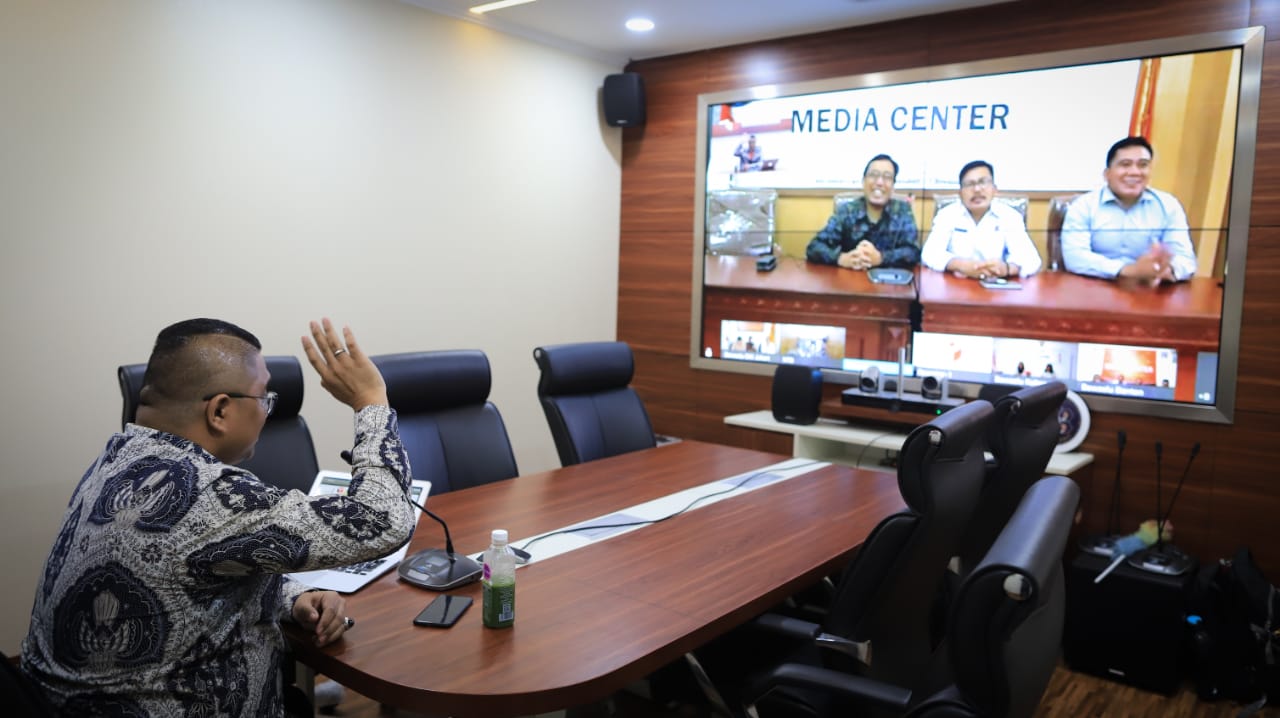
[(1153, 156), (1142, 137), (1126, 137), (1107, 151), (1106, 187), (1071, 202), (1062, 221), (1068, 271), (1152, 285), (1196, 274), (1187, 212), (1176, 197), (1147, 186)]

